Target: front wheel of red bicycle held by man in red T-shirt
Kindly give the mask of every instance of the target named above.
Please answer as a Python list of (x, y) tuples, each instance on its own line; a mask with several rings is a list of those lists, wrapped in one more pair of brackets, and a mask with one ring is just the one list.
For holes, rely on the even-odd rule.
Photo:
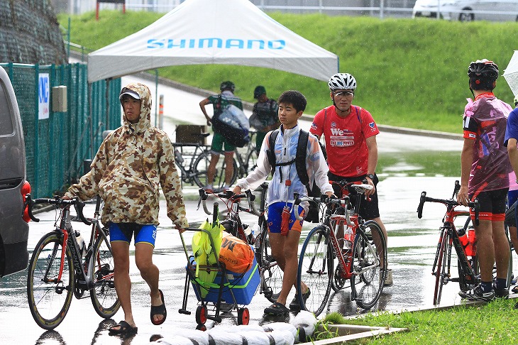
[(331, 292), (331, 277), (333, 276), (333, 246), (329, 243), (329, 229), (326, 226), (316, 226), (309, 231), (299, 257), (297, 270), (297, 291), (302, 291), (304, 282), (311, 295), (304, 301), (299, 298), (301, 310), (312, 312), (315, 316), (324, 310)]

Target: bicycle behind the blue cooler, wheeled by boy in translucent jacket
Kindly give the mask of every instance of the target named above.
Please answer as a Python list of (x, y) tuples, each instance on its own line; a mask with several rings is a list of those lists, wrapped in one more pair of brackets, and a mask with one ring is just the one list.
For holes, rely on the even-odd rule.
[[(250, 190), (246, 190), (241, 195), (233, 195), (231, 191), (228, 191), (226, 193), (219, 193), (217, 197), (228, 200), (226, 202), (228, 219), (221, 222), (221, 224), (225, 226), (226, 231), (249, 244), (253, 244), (255, 248), (255, 259), (260, 272), (259, 293), (265, 295), (265, 298), (270, 302), (275, 302), (282, 289), (282, 270), (271, 254), (268, 221), (265, 217), (267, 192), (268, 182), (263, 182), (263, 184), (260, 185), (259, 210), (255, 207), (255, 195), (253, 195)], [(211, 214), (206, 207), (206, 199), (209, 195), (210, 193), (200, 190), (200, 202), (202, 202), (206, 214)], [(248, 208), (242, 207), (239, 204), (240, 199), (248, 200)], [(248, 230), (248, 225), (241, 222), (239, 211), (255, 214), (259, 217), (258, 234), (253, 234), (251, 230)]]

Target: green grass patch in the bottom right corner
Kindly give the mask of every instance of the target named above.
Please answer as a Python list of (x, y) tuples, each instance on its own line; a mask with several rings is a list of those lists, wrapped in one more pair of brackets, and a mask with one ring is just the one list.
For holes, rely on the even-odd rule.
[(351, 344), (517, 344), (515, 303), (516, 300), (495, 300), (480, 307), (458, 306), (450, 310), (401, 314), (384, 312), (358, 319), (339, 319), (334, 313), (329, 317), (329, 323), (409, 329), (408, 332), (351, 341)]

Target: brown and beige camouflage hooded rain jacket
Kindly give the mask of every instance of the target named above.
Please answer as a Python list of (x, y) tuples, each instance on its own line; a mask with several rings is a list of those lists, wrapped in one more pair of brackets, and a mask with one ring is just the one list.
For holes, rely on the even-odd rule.
[(128, 84), (142, 99), (138, 124), (123, 116), (123, 126), (107, 136), (91, 168), (72, 185), (67, 197), (104, 199), (103, 224), (158, 225), (159, 185), (167, 202), (167, 217), (180, 228), (188, 226), (174, 150), (167, 134), (151, 126), (151, 95), (144, 84)]

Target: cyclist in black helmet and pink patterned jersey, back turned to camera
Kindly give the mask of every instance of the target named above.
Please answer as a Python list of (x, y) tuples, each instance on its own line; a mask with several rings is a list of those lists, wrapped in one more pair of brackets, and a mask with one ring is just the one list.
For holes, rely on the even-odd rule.
[[(495, 62), (486, 59), (471, 62), (468, 77), (475, 101), (468, 99), (464, 110), (458, 202), (468, 206), (468, 202), (476, 198), (480, 203), (480, 224), (475, 225), (475, 234), (481, 283), (472, 290), (458, 294), (468, 300), (489, 301), (495, 296), (507, 298), (509, 295), (507, 262), (510, 252), (504, 219), (512, 168), (504, 139), (511, 106), (492, 93), (498, 78)], [(493, 285), (495, 259), (497, 276)]]

